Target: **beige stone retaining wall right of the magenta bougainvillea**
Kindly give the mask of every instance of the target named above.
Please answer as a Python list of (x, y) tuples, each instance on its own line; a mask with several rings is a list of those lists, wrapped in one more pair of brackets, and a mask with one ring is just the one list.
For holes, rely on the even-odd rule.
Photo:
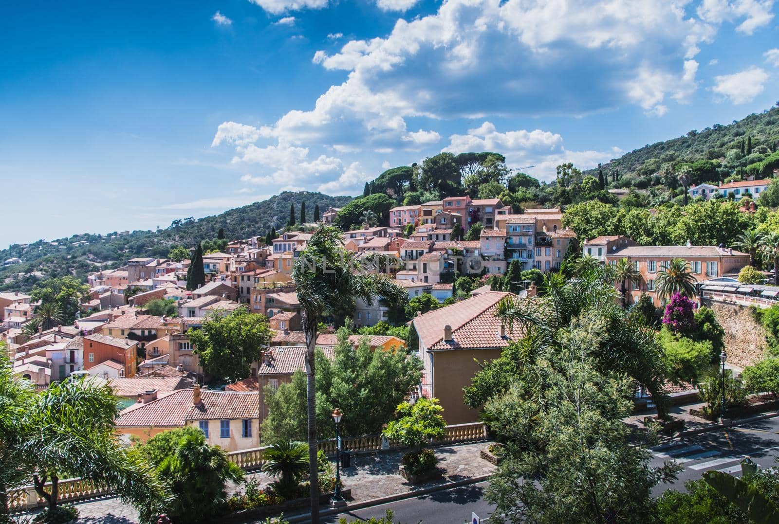
[(767, 347), (765, 332), (763, 326), (755, 322), (749, 307), (709, 299), (702, 302), (714, 310), (717, 321), (725, 330), (725, 351), (729, 363), (744, 368), (763, 360)]

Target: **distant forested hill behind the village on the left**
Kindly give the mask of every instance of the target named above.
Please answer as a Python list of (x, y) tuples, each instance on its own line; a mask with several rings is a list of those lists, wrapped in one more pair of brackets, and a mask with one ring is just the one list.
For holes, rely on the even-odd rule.
[(12, 244), (0, 251), (0, 262), (18, 257), (22, 263), (0, 267), (0, 290), (30, 290), (37, 280), (51, 276), (75, 275), (83, 279), (90, 271), (122, 266), (129, 258), (137, 256), (161, 258), (172, 245), (189, 248), (197, 241), (216, 238), (220, 228), (224, 229), (227, 239), (264, 236), (271, 227), (287, 225), (291, 203), (294, 203), (296, 213), (300, 213), (301, 203), (305, 202), (307, 218), (312, 220), (315, 206), (319, 205), (324, 213), (330, 207), (341, 207), (350, 201), (350, 196), (283, 192), (219, 215), (199, 220), (182, 218), (174, 221), (171, 227), (158, 231), (136, 230), (124, 235), (75, 234), (29, 245)]

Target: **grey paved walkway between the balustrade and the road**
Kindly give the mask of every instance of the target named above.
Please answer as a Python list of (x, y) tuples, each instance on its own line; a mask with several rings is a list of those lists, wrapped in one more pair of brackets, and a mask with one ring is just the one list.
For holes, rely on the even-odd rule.
[[(341, 480), (344, 487), (351, 489), (354, 501), (368, 501), (387, 495), (417, 491), (425, 487), (449, 484), (456, 480), (466, 480), (481, 477), (495, 471), (495, 466), (481, 459), (479, 452), (485, 448), (485, 442), (473, 444), (451, 445), (435, 448), (438, 455), (442, 476), (424, 484), (413, 485), (400, 476), (398, 466), (405, 450), (393, 452), (372, 452), (351, 455), (352, 467), (341, 470)], [(273, 481), (265, 473), (250, 475), (265, 485)], [(228, 491), (235, 491), (232, 486)], [(125, 505), (118, 498), (101, 498), (93, 501), (79, 502), (79, 524), (134, 524), (138, 522), (138, 512), (132, 506)]]

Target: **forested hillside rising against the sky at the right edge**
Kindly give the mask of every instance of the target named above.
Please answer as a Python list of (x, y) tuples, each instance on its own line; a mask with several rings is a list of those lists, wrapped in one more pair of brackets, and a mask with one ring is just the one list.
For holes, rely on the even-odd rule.
[[(714, 124), (710, 128), (690, 130), (679, 138), (647, 144), (603, 164), (601, 168), (612, 181), (612, 187), (647, 188), (657, 183), (652, 180), (652, 175), (662, 171), (667, 164), (721, 160), (721, 164), (731, 169), (730, 172), (739, 169), (746, 172), (747, 167), (759, 164), (777, 150), (779, 107), (772, 107), (728, 125)], [(585, 174), (597, 176), (597, 169)], [(622, 177), (619, 183), (614, 183), (613, 174), (617, 178)]]

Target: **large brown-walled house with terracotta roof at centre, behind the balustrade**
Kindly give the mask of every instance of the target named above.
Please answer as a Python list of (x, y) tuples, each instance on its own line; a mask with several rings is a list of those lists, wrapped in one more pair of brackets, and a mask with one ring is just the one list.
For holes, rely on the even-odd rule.
[(411, 349), (424, 366), (421, 393), (440, 400), (447, 424), (478, 420), (478, 410), (463, 401), (463, 389), (471, 385), (480, 362), (498, 358), (509, 343), (522, 336), (519, 326), (509, 329), (495, 316), (499, 301), (510, 295), (486, 291), (412, 320), (419, 346)]

